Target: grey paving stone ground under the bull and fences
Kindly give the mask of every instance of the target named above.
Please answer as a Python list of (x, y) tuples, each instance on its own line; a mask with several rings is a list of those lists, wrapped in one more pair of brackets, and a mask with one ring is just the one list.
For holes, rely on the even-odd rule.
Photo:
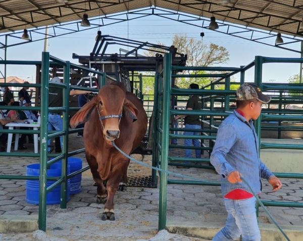
[[(82, 145), (82, 138), (77, 138), (76, 134), (70, 136), (70, 150), (83, 148)], [(30, 144), (28, 148), (29, 151), (33, 149)], [(184, 156), (184, 150), (175, 150), (172, 155)], [(83, 166), (87, 165), (84, 154), (77, 157), (82, 158)], [(141, 155), (134, 155), (134, 158), (151, 163), (151, 156), (142, 158)], [(25, 175), (26, 166), (37, 162), (38, 159), (35, 158), (1, 157), (0, 174)], [(219, 180), (219, 175), (213, 170), (175, 167), (170, 167), (170, 170), (197, 178)], [(143, 174), (150, 175), (150, 170), (136, 164), (130, 165), (129, 175)], [(303, 180), (286, 178), (281, 180), (283, 187), (278, 192), (271, 192), (269, 184), (264, 181), (262, 199), (303, 203)], [(0, 180), (0, 214), (38, 214), (38, 206), (25, 202), (25, 182)], [(46, 235), (51, 238), (49, 240), (138, 240), (149, 239), (157, 233), (159, 188), (128, 187), (124, 192), (117, 192), (116, 221), (100, 219), (104, 205), (95, 203), (96, 187), (93, 186), (89, 170), (82, 175), (81, 189), (79, 194), (71, 196), (67, 209), (60, 209), (60, 205), (47, 206)], [(279, 224), (303, 225), (303, 208), (269, 207), (268, 209)], [(222, 222), (226, 218), (226, 211), (220, 187), (169, 185), (167, 218), (168, 221), (179, 222)], [(260, 209), (260, 222), (271, 222), (262, 209)], [(2, 234), (2, 237), (3, 240), (34, 240), (33, 233)], [(202, 239), (189, 238), (189, 240)]]

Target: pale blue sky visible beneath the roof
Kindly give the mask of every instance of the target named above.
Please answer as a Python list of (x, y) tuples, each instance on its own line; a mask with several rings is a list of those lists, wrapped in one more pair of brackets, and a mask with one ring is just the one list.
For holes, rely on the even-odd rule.
[[(89, 55), (94, 46), (94, 39), (98, 29), (87, 30), (79, 33), (68, 34), (61, 37), (48, 39), (48, 52), (63, 60), (69, 60), (78, 64), (72, 59), (72, 54)], [(172, 44), (174, 34), (186, 34), (188, 37), (201, 39), (200, 32), (205, 32), (204, 43), (215, 43), (226, 47), (230, 57), (225, 64), (217, 66), (239, 67), (247, 65), (255, 59), (255, 56), (299, 58), (298, 53), (281, 50), (277, 47), (252, 42), (249, 40), (229, 36), (208, 29), (179, 23), (173, 20), (163, 19), (157, 16), (148, 16), (138, 20), (131, 20), (115, 25), (100, 28), (102, 34), (110, 34), (118, 37), (136, 39), (157, 43), (161, 41), (166, 45)], [(249, 34), (249, 33), (248, 33)], [(272, 41), (275, 38), (271, 38)], [(8, 60), (41, 60), (43, 51), (43, 40), (9, 47), (7, 51)], [(127, 49), (127, 47), (124, 47)], [(112, 53), (119, 53), (119, 47), (111, 46)], [(0, 56), (4, 58), (4, 51), (0, 50)], [(139, 53), (140, 54), (140, 53)], [(0, 67), (3, 71), (3, 66)], [(7, 76), (18, 76), (34, 82), (34, 66), (8, 66)], [(299, 64), (265, 64), (263, 67), (264, 82), (287, 82), (288, 78), (299, 73)], [(235, 75), (238, 79), (239, 75)], [(245, 73), (245, 81), (254, 81), (254, 68)]]

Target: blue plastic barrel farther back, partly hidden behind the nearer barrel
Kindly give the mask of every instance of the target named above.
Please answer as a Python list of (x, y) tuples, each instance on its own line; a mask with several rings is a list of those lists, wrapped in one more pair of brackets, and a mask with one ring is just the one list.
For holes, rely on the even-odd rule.
[[(81, 158), (69, 157), (67, 163), (70, 166), (71, 173), (82, 169)], [(53, 166), (61, 166), (61, 160), (53, 164)], [(71, 181), (71, 194), (77, 194), (81, 191), (81, 179), (82, 173), (69, 179)]]

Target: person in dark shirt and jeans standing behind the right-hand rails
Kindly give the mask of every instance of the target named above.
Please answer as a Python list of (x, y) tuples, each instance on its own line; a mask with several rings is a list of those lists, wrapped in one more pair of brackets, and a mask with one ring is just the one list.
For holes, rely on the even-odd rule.
[[(189, 85), (189, 89), (198, 89), (199, 85), (192, 83)], [(197, 94), (192, 94), (190, 98), (187, 101), (186, 104), (186, 110), (201, 110), (202, 103)], [(185, 117), (185, 129), (201, 129), (201, 121), (200, 121), (200, 116), (199, 115), (181, 115), (181, 116), (176, 116), (175, 120), (178, 120), (180, 118)], [(200, 132), (192, 132), (192, 131), (186, 131), (185, 130), (185, 135), (200, 135)], [(184, 145), (187, 147), (192, 146), (195, 147), (200, 147), (200, 140), (199, 139), (185, 139), (184, 140)], [(195, 150), (195, 155), (196, 158), (201, 158), (201, 150)], [(191, 157), (191, 149), (186, 149), (185, 151), (185, 157), (190, 158)], [(186, 164), (189, 164), (189, 162), (185, 162)]]

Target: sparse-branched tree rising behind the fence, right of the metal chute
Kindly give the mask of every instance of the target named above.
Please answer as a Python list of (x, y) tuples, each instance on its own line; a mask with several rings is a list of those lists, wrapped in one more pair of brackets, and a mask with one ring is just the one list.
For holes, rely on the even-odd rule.
[[(158, 42), (160, 45), (165, 45)], [(188, 66), (203, 66), (207, 67), (213, 64), (222, 64), (229, 60), (229, 52), (225, 47), (219, 46), (214, 43), (205, 44), (202, 40), (196, 40), (194, 38), (188, 38), (186, 34), (175, 34), (173, 37), (172, 45), (177, 48), (177, 52), (187, 55), (186, 64)], [(146, 52), (147, 56), (155, 56), (156, 50), (165, 52), (162, 49), (150, 48), (150, 51)], [(184, 71), (187, 74), (204, 74), (205, 71)], [(215, 73), (215, 72), (212, 72)], [(197, 83), (199, 86), (204, 86), (210, 83), (212, 78), (176, 78), (176, 85), (180, 88), (188, 88), (189, 84)]]

